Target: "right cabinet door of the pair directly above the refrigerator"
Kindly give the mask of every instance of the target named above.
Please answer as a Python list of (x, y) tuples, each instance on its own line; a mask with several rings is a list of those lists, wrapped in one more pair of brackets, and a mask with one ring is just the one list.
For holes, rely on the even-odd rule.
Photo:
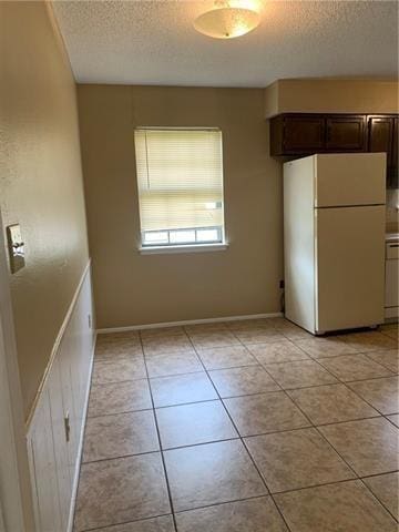
[(326, 150), (364, 152), (366, 150), (366, 116), (328, 116)]

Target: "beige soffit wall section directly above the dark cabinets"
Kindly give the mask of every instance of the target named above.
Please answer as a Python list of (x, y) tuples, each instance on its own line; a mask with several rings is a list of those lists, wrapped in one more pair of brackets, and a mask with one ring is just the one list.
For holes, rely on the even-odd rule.
[(397, 81), (278, 80), (265, 90), (265, 116), (279, 113), (397, 113)]

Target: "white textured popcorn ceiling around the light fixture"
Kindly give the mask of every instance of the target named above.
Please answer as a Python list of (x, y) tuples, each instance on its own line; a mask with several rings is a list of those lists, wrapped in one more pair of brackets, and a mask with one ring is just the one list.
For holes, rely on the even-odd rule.
[(53, 6), (81, 83), (265, 86), (280, 78), (397, 75), (396, 1), (257, 3), (259, 28), (234, 40), (193, 29), (208, 0)]

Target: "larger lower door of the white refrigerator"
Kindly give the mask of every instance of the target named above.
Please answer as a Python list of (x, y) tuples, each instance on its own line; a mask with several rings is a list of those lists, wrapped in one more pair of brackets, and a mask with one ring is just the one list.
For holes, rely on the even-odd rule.
[(383, 323), (385, 205), (315, 209), (316, 331)]

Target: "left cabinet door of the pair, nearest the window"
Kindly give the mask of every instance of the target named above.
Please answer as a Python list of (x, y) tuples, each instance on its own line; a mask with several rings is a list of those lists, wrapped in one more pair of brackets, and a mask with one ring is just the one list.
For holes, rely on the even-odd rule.
[(324, 150), (324, 136), (323, 116), (286, 116), (284, 120), (285, 153), (316, 153)]

